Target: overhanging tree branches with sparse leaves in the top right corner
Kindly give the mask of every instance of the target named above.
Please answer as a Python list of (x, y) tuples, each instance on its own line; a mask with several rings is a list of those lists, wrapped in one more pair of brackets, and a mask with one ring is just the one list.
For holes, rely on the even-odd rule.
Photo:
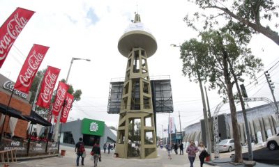
[[(279, 16), (278, 4), (274, 3), (273, 0), (195, 0), (195, 3), (199, 8), (205, 9), (206, 12), (211, 11), (213, 14), (195, 13), (194, 18), (189, 18), (186, 15), (184, 21), (188, 26), (197, 30), (195, 22), (200, 22), (199, 19), (204, 18), (204, 29), (211, 29), (219, 23), (218, 18), (223, 17), (228, 22), (241, 23), (239, 24), (241, 29), (248, 27), (250, 33), (262, 33), (279, 45), (278, 32), (273, 30), (278, 28), (278, 20), (273, 25), (270, 22)], [(216, 10), (219, 13), (216, 13)], [(266, 22), (269, 25), (264, 26), (263, 24)]]

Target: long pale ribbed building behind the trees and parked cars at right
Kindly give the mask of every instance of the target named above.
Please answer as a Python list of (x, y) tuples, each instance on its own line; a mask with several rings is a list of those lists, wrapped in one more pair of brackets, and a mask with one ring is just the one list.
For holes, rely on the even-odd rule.
[[(245, 144), (247, 142), (247, 136), (243, 113), (242, 111), (238, 111), (236, 114), (241, 143)], [(274, 108), (270, 104), (246, 109), (246, 115), (252, 137), (251, 140), (253, 139), (257, 143), (264, 143), (267, 138), (279, 132), (278, 118), (276, 118)], [(185, 136), (183, 137), (183, 141), (186, 143), (189, 141), (194, 141), (196, 144), (200, 141), (206, 143), (204, 120), (200, 120), (199, 122), (186, 127), (184, 131)], [(212, 132), (213, 131), (211, 131), (211, 135), (213, 136)], [(223, 113), (218, 116), (218, 133), (219, 140), (233, 137), (230, 113)]]

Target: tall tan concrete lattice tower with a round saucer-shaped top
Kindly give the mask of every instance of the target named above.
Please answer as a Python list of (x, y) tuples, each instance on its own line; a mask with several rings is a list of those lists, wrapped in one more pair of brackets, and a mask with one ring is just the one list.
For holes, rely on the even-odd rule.
[(156, 134), (147, 58), (157, 50), (156, 39), (135, 14), (118, 42), (119, 52), (128, 58), (123, 85), (116, 153), (121, 158), (155, 158)]

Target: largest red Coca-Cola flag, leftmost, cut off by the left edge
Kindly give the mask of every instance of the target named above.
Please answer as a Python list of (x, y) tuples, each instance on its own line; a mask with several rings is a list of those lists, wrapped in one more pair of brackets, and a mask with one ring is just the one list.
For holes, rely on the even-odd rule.
[(0, 28), (0, 68), (20, 32), (35, 12), (17, 8)]

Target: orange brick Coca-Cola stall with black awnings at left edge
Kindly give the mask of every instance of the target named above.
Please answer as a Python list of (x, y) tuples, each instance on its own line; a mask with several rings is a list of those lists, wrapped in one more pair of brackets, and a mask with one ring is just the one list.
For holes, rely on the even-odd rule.
[(58, 153), (58, 144), (46, 138), (29, 135), (32, 125), (51, 126), (35, 111), (31, 111), (27, 95), (15, 90), (14, 83), (0, 74), (0, 151), (16, 150), (17, 157)]

